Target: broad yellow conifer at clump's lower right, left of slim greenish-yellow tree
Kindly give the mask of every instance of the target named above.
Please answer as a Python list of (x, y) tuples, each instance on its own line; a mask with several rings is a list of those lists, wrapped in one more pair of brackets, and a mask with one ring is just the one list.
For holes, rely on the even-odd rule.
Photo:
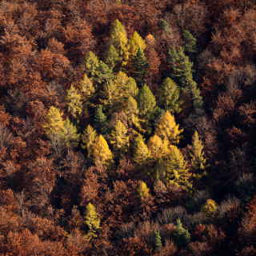
[(174, 186), (184, 189), (190, 189), (192, 186), (187, 163), (177, 146), (170, 146), (169, 154), (158, 162), (157, 172), (160, 178)]

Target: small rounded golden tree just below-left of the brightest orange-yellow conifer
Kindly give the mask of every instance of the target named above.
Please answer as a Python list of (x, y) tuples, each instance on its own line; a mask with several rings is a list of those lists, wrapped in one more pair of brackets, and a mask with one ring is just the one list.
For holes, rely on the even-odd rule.
[(169, 152), (168, 143), (166, 141), (162, 141), (158, 135), (153, 135), (150, 137), (149, 141), (147, 142), (148, 149), (150, 150), (151, 158), (154, 160), (158, 160)]

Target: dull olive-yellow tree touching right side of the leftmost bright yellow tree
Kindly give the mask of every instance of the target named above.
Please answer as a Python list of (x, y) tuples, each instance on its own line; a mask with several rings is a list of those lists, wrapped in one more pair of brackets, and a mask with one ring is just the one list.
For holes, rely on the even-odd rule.
[(74, 124), (70, 121), (69, 118), (66, 118), (64, 122), (65, 133), (64, 140), (66, 146), (75, 147), (78, 146), (80, 135), (78, 134), (78, 129)]

